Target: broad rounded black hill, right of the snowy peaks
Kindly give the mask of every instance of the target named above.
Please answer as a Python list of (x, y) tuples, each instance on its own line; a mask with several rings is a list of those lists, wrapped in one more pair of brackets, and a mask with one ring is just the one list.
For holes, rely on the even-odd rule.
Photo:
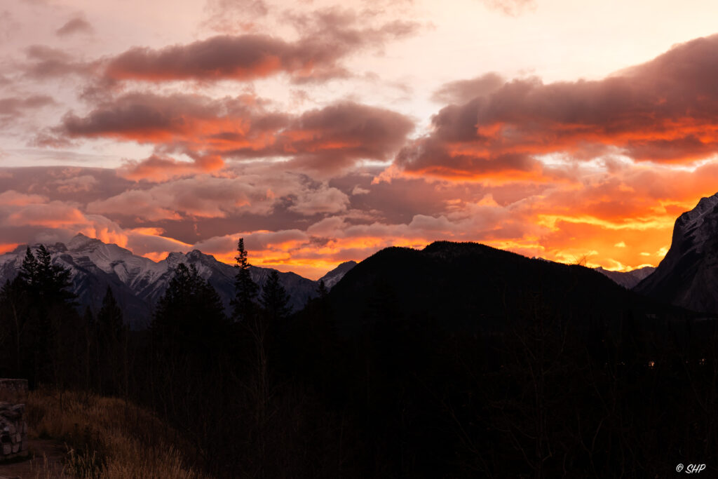
[[(615, 320), (625, 314), (639, 320), (676, 314), (584, 266), (448, 241), (421, 251), (383, 249), (348, 271), (329, 297), (340, 312), (337, 321), (344, 325), (388, 315), (409, 322), (430, 318), (452, 321), (454, 327), (486, 328), (525, 315), (531, 307), (582, 322)], [(457, 324), (456, 318), (464, 324)]]

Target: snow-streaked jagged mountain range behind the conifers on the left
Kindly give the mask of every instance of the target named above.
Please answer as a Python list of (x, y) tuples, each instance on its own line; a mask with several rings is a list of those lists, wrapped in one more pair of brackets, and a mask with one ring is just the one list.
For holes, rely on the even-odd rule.
[[(26, 246), (0, 256), (0, 284), (17, 275)], [(201, 251), (187, 254), (170, 253), (166, 259), (154, 262), (116, 244), (106, 244), (94, 238), (78, 234), (67, 245), (48, 245), (52, 261), (70, 269), (75, 294), (80, 304), (99, 309), (108, 286), (113, 290), (126, 321), (134, 327), (144, 325), (157, 300), (162, 297), (172, 269), (177, 264), (194, 264), (202, 278), (217, 290), (225, 309), (229, 312), (234, 295), (233, 266), (217, 261), (214, 256)], [(269, 268), (251, 268), (252, 279), (261, 287), (266, 282)], [(304, 307), (309, 298), (316, 296), (317, 282), (294, 273), (279, 273), (279, 281), (289, 294), (289, 306), (293, 310)]]

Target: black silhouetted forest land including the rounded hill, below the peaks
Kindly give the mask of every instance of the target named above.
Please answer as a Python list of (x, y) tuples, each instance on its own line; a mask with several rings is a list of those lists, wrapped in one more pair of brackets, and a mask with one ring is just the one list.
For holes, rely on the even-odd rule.
[[(718, 451), (714, 321), (582, 266), (388, 248), (290, 314), (243, 241), (233, 314), (177, 266), (148, 330), (27, 249), (0, 376), (147, 406), (218, 478), (665, 477)], [(186, 445), (192, 445), (187, 447)]]

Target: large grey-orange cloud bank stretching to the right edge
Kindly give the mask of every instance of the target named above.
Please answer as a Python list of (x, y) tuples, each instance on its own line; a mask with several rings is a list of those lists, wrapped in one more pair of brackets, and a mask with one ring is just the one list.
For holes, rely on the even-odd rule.
[[(592, 159), (617, 149), (635, 161), (691, 163), (718, 153), (718, 35), (699, 38), (604, 80), (454, 82), (433, 131), (404, 147), (406, 172), (486, 177), (541, 170), (536, 157)], [(470, 90), (475, 95), (470, 99)]]

